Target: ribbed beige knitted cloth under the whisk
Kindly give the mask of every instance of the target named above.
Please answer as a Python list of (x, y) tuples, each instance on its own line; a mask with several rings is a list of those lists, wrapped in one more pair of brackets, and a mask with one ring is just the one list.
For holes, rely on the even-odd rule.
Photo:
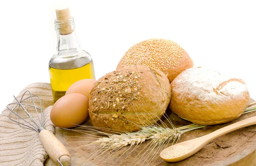
[[(45, 127), (50, 132), (54, 132), (55, 126), (49, 117), (51, 105), (53, 105), (50, 84), (30, 84), (20, 92), (17, 96), (18, 100), (26, 90), (40, 97), (41, 106), (44, 111)], [(26, 102), (31, 104), (30, 101), (26, 100)], [(35, 99), (35, 103), (38, 105), (38, 99)], [(26, 108), (33, 118), (38, 119), (32, 107)], [(23, 112), (22, 109), (21, 111)], [(0, 115), (0, 166), (44, 166), (46, 162), (47, 166), (52, 165), (51, 161), (47, 161), (48, 155), (38, 137), (38, 132), (20, 127), (9, 119), (9, 113), (10, 111), (6, 108)], [(22, 114), (22, 116), (26, 117), (25, 114)]]

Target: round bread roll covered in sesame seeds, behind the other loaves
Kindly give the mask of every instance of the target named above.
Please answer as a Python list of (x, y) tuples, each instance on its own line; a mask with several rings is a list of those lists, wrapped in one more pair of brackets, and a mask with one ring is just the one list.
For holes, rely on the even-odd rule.
[(120, 60), (116, 69), (145, 65), (161, 70), (169, 82), (182, 71), (194, 66), (188, 53), (168, 39), (148, 39), (133, 45)]

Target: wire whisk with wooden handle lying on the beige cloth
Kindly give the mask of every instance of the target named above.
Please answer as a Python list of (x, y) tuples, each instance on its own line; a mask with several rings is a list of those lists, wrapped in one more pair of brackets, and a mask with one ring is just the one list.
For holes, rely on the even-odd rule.
[[(25, 98), (25, 95), (29, 96)], [(72, 166), (70, 154), (66, 147), (44, 126), (44, 111), (41, 107), (40, 97), (38, 95), (32, 95), (29, 90), (26, 90), (21, 96), (20, 101), (15, 96), (14, 98), (16, 102), (6, 106), (11, 111), (9, 119), (17, 123), (20, 127), (38, 132), (45, 151), (56, 165)], [(39, 106), (36, 106), (35, 100), (38, 100)], [(35, 111), (35, 118), (37, 119), (32, 117), (33, 111)], [(26, 118), (24, 117), (25, 115), (27, 116)]]

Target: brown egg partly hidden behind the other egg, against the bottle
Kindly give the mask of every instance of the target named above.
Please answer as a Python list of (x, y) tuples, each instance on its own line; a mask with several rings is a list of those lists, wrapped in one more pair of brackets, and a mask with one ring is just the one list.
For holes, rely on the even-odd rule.
[(80, 93), (89, 99), (90, 90), (95, 82), (95, 79), (81, 79), (67, 89), (66, 95), (70, 93)]

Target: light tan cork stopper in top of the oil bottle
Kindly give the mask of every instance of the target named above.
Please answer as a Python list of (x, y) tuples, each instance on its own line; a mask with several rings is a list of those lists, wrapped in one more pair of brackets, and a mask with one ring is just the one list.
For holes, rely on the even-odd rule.
[(59, 32), (61, 35), (67, 35), (71, 34), (74, 31), (74, 28), (72, 27), (72, 21), (70, 17), (70, 10), (69, 8), (58, 10), (56, 9), (56, 21), (59, 25)]

